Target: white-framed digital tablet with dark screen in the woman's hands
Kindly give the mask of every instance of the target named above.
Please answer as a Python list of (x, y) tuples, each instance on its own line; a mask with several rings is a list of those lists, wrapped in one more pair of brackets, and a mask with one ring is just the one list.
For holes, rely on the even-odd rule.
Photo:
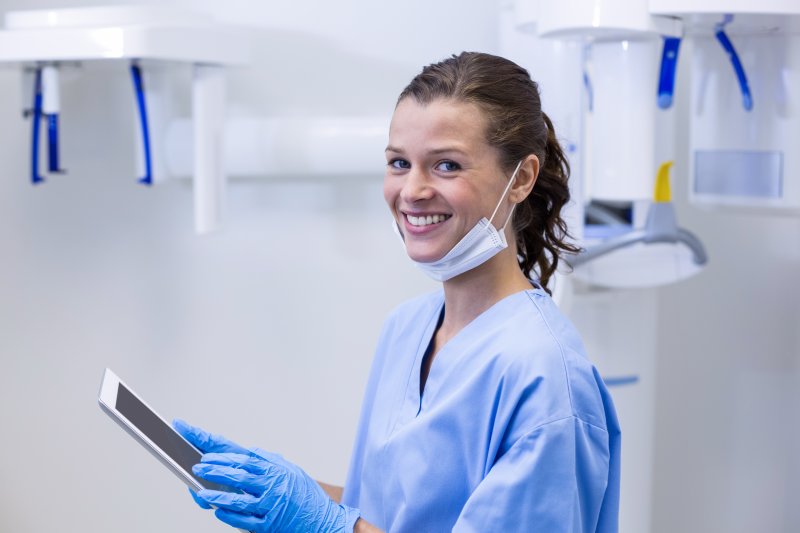
[(103, 374), (97, 400), (108, 416), (190, 489), (234, 491), (231, 487), (212, 483), (192, 474), (192, 466), (200, 462), (202, 453), (172, 429), (170, 424), (108, 368)]

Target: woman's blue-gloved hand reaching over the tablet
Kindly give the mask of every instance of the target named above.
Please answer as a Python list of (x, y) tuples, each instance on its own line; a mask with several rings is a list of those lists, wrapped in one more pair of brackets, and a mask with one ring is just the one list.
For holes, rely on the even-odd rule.
[(350, 533), (358, 509), (334, 502), (302, 469), (280, 455), (244, 449), (185, 422), (175, 428), (204, 453), (193, 473), (241, 489), (245, 494), (201, 490), (195, 499), (217, 507), (217, 518), (233, 527), (266, 532)]

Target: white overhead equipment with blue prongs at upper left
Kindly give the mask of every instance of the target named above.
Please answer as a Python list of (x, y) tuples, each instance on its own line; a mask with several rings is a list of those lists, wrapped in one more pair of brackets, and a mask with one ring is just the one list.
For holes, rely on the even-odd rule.
[(222, 161), (225, 68), (249, 61), (249, 36), (210, 16), (167, 6), (102, 6), (15, 11), (0, 31), (0, 63), (21, 66), (31, 78), (31, 180), (41, 183), (40, 121), (48, 123), (48, 170), (59, 167), (58, 73), (75, 62), (124, 61), (130, 68), (139, 116), (144, 175), (154, 181), (145, 62), (189, 64), (194, 117), (195, 228), (217, 227), (226, 177)]

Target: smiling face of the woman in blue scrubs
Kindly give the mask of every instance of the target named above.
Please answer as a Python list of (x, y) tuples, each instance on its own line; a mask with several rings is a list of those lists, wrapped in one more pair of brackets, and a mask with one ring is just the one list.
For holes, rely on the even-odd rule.
[[(485, 126), (483, 112), (467, 102), (421, 105), (407, 97), (397, 105), (383, 196), (411, 259), (441, 259), (500, 201), (508, 176), (484, 138)], [(492, 224), (501, 227), (510, 209), (506, 197)]]

